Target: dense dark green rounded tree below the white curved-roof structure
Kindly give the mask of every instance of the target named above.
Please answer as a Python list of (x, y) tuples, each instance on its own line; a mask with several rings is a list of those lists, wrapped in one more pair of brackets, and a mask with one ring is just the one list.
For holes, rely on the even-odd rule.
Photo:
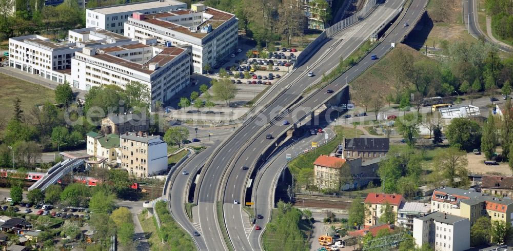
[(467, 118), (453, 119), (445, 130), (450, 146), (471, 151), (481, 145), (481, 127)]

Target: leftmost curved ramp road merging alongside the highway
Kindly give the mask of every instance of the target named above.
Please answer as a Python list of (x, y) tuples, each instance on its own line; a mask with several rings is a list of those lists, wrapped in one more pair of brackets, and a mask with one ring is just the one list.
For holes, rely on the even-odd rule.
[[(203, 164), (205, 164), (208, 156), (212, 154), (215, 147), (214, 145), (219, 144), (220, 141), (214, 141), (213, 144), (205, 145), (207, 149), (200, 152), (198, 155), (192, 157), (187, 163), (184, 163), (179, 167), (179, 169), (174, 170), (173, 177), (171, 181), (171, 187), (169, 192), (169, 206), (171, 208), (171, 215), (173, 218), (182, 225), (185, 230), (191, 234), (192, 238), (194, 238), (194, 242), (196, 246), (200, 250), (207, 250), (207, 245), (203, 241), (202, 237), (194, 237), (192, 234), (194, 231), (198, 231), (200, 235), (200, 229), (196, 229), (193, 224), (189, 221), (187, 214), (185, 212), (184, 202), (186, 201), (186, 196), (188, 193), (188, 184), (190, 184), (191, 179), (195, 179), (195, 173), (198, 171), (198, 168), (201, 168)], [(182, 171), (186, 170), (189, 174), (182, 175)]]

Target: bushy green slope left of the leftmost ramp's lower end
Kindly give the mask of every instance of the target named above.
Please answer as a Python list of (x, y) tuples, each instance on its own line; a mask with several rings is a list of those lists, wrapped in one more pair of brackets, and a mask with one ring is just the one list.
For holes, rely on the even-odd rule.
[[(156, 233), (162, 241), (171, 247), (162, 250), (196, 250), (192, 237), (174, 221), (167, 210), (166, 203), (165, 201), (159, 201), (155, 204), (155, 211), (159, 214), (161, 220), (161, 228), (156, 229)], [(156, 221), (154, 226), (156, 226)]]

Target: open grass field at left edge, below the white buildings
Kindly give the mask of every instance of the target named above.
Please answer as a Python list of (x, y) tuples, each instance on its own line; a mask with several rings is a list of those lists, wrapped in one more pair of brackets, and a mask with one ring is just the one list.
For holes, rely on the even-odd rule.
[(36, 85), (23, 80), (13, 78), (12, 76), (0, 74), (0, 115), (10, 119), (13, 114), (13, 102), (16, 98), (21, 100), (22, 110), (25, 114), (30, 114), (32, 107), (42, 105), (45, 102), (55, 103), (55, 94), (53, 90)]

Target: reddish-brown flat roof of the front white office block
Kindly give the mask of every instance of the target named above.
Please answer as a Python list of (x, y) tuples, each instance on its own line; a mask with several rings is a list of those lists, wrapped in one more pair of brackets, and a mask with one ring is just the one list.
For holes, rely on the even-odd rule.
[(162, 49), (162, 51), (159, 54), (155, 55), (151, 60), (145, 62), (144, 64), (131, 62), (129, 60), (123, 59), (122, 57), (117, 57), (117, 56), (108, 54), (108, 52), (122, 51), (122, 50), (135, 49), (135, 48), (145, 48), (145, 47), (151, 47), (151, 46), (143, 45), (143, 44), (113, 46), (113, 47), (97, 49), (97, 53), (94, 55), (91, 55), (91, 56), (98, 60), (102, 60), (102, 61), (105, 61), (110, 64), (116, 64), (119, 66), (130, 68), (135, 71), (143, 72), (146, 74), (152, 74), (154, 71), (148, 69), (148, 66), (150, 63), (159, 63), (159, 66), (163, 67), (167, 63), (171, 62), (177, 55), (180, 55), (180, 53), (185, 51), (185, 49), (182, 49), (180, 47), (154, 46), (155, 48)]

